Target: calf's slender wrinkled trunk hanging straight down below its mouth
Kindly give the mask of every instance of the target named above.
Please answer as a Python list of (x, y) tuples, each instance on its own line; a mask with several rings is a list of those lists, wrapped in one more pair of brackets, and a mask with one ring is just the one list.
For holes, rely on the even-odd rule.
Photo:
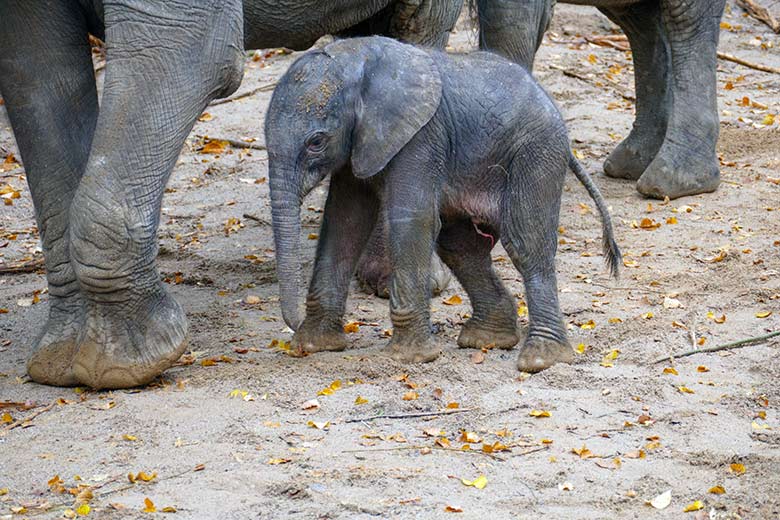
[(271, 213), (276, 247), (276, 272), (282, 318), (293, 330), (301, 324), (301, 208), (293, 193), (271, 190)]

